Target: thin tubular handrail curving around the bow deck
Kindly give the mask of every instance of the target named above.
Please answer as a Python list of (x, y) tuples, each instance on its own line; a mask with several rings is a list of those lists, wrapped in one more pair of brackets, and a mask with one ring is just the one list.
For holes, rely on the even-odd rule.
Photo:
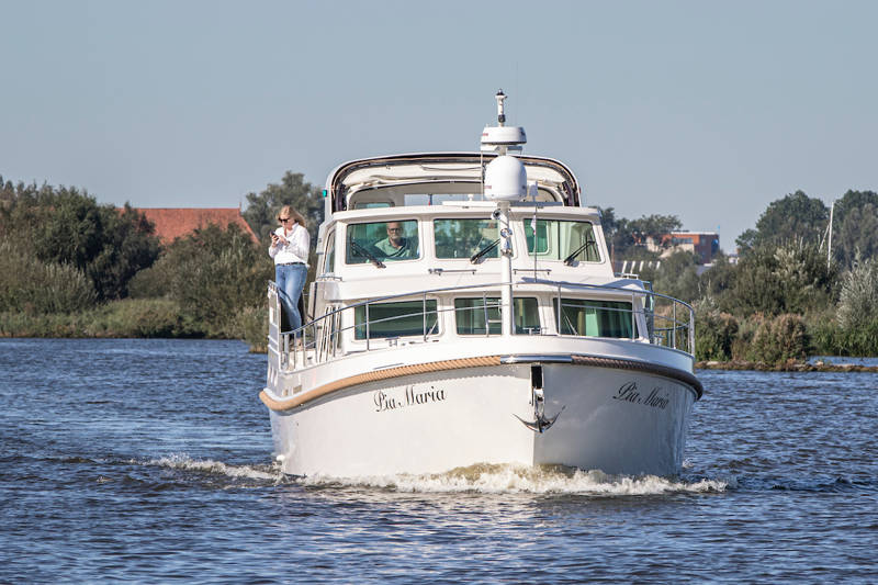
[[(477, 284), (464, 284), (464, 285), (457, 285), (457, 286), (442, 286), (436, 289), (426, 289), (420, 291), (409, 291), (396, 294), (390, 294), (373, 299), (367, 299), (364, 301), (360, 301), (350, 305), (336, 307), (329, 311), (326, 311), (323, 315), (314, 318), (309, 323), (306, 323), (292, 331), (278, 331), (280, 338), (278, 339), (280, 344), (275, 344), (279, 348), (283, 348), (284, 353), (288, 351), (292, 352), (291, 359), (286, 361), (286, 363), (291, 364), (293, 368), (299, 365), (305, 365), (306, 362), (311, 361), (312, 363), (318, 363), (323, 361), (327, 361), (329, 359), (335, 358), (338, 355), (338, 350), (341, 348), (342, 341), (342, 334), (349, 331), (351, 329), (364, 328), (365, 337), (364, 337), (364, 349), (365, 351), (371, 351), (374, 344), (371, 342), (372, 340), (372, 330), (373, 325), (390, 322), (395, 319), (401, 319), (404, 317), (413, 317), (416, 315), (421, 316), (421, 335), (415, 335), (415, 337), (421, 337), (423, 340), (426, 342), (428, 338), (432, 335), (436, 335), (435, 331), (440, 323), (439, 315), (442, 313), (453, 312), (457, 313), (458, 311), (482, 311), (484, 316), (484, 326), (485, 326), (485, 337), (491, 336), (498, 336), (500, 334), (492, 334), (491, 333), (491, 323), (488, 318), (488, 302), (487, 297), (489, 292), (485, 291), (485, 289), (498, 289), (499, 286), (509, 285), (508, 282), (493, 282), (493, 283), (477, 283)], [(695, 352), (695, 311), (688, 303), (674, 299), (672, 296), (656, 293), (650, 290), (644, 289), (629, 289), (622, 286), (612, 286), (607, 284), (590, 284), (590, 283), (577, 283), (577, 282), (565, 282), (565, 281), (549, 281), (542, 279), (533, 279), (533, 278), (526, 278), (519, 281), (514, 281), (511, 285), (515, 289), (521, 291), (522, 289), (526, 290), (527, 285), (537, 284), (537, 285), (544, 285), (551, 286), (550, 290), (554, 290), (552, 292), (553, 296), (555, 297), (556, 302), (556, 323), (555, 323), (555, 331), (550, 333), (551, 330), (547, 329), (544, 326), (540, 326), (539, 330), (536, 335), (550, 335), (550, 336), (563, 336), (563, 337), (585, 337), (585, 335), (581, 335), (573, 323), (570, 322), (570, 318), (564, 315), (564, 311), (562, 307), (564, 306), (574, 306), (562, 303), (562, 294), (565, 291), (572, 290), (589, 290), (596, 292), (607, 292), (612, 293), (615, 296), (622, 296), (626, 297), (630, 295), (631, 299), (631, 337), (629, 339), (637, 340), (637, 339), (646, 339), (652, 345), (661, 345), (665, 347), (669, 347), (676, 350), (684, 351), (689, 355), (694, 355)], [(269, 282), (269, 289), (273, 289), (278, 293), (281, 291), (277, 288), (274, 282)], [(481, 296), (482, 296), (482, 306), (481, 307), (450, 307), (450, 308), (440, 308), (439, 305), (436, 305), (434, 310), (427, 310), (427, 301), (428, 295), (440, 295), (442, 293), (449, 292), (461, 292), (466, 290), (473, 289), (482, 289)], [(533, 291), (534, 293), (538, 292), (545, 292), (545, 291)], [(499, 294), (499, 293), (497, 293)], [(420, 299), (418, 299), (420, 297)], [(392, 317), (382, 317), (379, 319), (372, 319), (370, 317), (370, 305), (375, 305), (379, 303), (385, 303), (389, 301), (394, 300), (408, 300), (408, 301), (420, 301), (420, 313), (415, 312), (407, 312), (405, 315), (394, 315)], [(642, 300), (641, 303), (638, 303), (638, 300)], [(669, 306), (667, 306), (669, 304)], [(639, 306), (640, 305), (640, 306)], [(677, 318), (677, 305), (683, 310), (684, 314), (688, 316)], [(579, 305), (575, 305), (579, 306)], [(358, 323), (356, 318), (352, 319), (352, 325), (344, 326), (344, 318), (342, 315), (345, 312), (349, 312), (348, 315), (356, 314), (358, 307), (364, 307), (364, 323)], [(588, 307), (585, 307), (588, 308)], [(627, 308), (618, 308), (618, 307), (601, 307), (600, 311), (606, 312), (615, 312), (615, 313), (627, 313), (629, 310)], [(432, 325), (428, 325), (427, 319), (428, 316), (435, 315), (436, 323)], [(643, 323), (639, 327), (639, 317), (643, 317)], [(573, 335), (564, 334), (565, 330), (562, 328), (562, 318), (566, 320), (570, 331), (574, 331)], [(645, 327), (645, 329), (641, 329), (641, 327)], [(641, 330), (639, 330), (641, 329)], [(398, 336), (396, 336), (398, 339)], [(311, 338), (311, 339), (308, 339)], [(390, 337), (387, 337), (390, 339)], [(361, 340), (356, 340), (361, 341)], [(383, 346), (382, 346), (383, 347)], [(358, 346), (357, 350), (362, 351), (363, 346)], [(308, 350), (313, 350), (312, 355), (308, 356)]]

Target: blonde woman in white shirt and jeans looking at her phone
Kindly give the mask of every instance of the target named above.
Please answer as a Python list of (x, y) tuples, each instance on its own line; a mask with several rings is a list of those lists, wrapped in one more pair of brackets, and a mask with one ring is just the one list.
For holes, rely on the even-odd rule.
[(274, 259), (274, 282), (281, 291), (281, 304), (289, 316), (291, 330), (302, 327), (299, 297), (308, 275), (311, 236), (301, 213), (284, 205), (278, 214), (281, 226), (271, 234), (269, 256)]

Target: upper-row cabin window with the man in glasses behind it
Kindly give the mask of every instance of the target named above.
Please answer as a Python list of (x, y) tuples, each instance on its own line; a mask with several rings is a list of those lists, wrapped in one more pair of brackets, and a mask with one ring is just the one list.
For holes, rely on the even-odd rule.
[(348, 226), (346, 262), (395, 262), (420, 258), (415, 220), (373, 222)]

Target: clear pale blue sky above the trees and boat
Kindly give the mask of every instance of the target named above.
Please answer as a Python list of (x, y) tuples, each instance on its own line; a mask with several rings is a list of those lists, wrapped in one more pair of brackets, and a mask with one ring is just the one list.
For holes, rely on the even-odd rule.
[(0, 175), (237, 206), (303, 172), (477, 149), (509, 94), (586, 201), (727, 251), (769, 202), (878, 190), (878, 2), (0, 0)]

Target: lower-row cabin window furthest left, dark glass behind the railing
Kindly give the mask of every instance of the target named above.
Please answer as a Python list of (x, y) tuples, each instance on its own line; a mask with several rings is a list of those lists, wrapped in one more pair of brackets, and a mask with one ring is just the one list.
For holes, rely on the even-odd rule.
[[(365, 305), (353, 310), (354, 338), (365, 339)], [(436, 334), (436, 300), (369, 304), (369, 338)]]

